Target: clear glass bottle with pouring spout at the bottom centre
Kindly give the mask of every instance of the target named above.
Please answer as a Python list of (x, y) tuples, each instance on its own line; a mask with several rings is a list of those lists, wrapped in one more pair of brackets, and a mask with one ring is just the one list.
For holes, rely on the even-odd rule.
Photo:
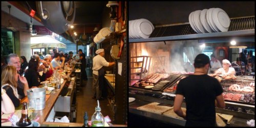
[(92, 116), (92, 126), (104, 126), (104, 117), (101, 114), (101, 108), (99, 107), (99, 100), (97, 100), (98, 106), (95, 107), (95, 113)]

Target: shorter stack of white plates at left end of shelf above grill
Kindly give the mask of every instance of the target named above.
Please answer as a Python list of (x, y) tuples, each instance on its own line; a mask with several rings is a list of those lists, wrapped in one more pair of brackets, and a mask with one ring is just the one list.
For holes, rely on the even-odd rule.
[(147, 19), (129, 20), (129, 39), (148, 38), (154, 29), (154, 25)]

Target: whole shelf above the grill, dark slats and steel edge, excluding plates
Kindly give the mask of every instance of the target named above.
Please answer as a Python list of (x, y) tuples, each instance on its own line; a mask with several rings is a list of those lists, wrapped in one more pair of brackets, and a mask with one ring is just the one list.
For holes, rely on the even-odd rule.
[(254, 42), (255, 16), (230, 18), (230, 26), (227, 32), (197, 34), (188, 22), (179, 24), (157, 25), (150, 38), (129, 39), (134, 42), (155, 42), (170, 40), (198, 39), (204, 42), (225, 42), (229, 38), (236, 37), (241, 41)]

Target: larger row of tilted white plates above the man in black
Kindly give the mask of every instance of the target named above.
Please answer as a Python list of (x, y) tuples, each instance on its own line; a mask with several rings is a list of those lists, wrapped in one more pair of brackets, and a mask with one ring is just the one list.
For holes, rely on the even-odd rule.
[(191, 28), (197, 33), (227, 32), (230, 18), (220, 8), (191, 12), (188, 17)]

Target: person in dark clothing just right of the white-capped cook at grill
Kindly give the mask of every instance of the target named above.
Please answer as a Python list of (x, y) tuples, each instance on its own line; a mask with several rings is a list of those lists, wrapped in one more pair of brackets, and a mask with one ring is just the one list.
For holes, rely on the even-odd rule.
[(245, 64), (242, 62), (242, 58), (238, 57), (237, 61), (232, 62), (231, 66), (236, 70), (237, 75), (245, 75)]

